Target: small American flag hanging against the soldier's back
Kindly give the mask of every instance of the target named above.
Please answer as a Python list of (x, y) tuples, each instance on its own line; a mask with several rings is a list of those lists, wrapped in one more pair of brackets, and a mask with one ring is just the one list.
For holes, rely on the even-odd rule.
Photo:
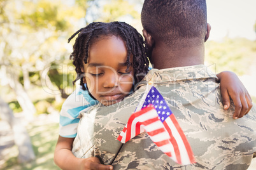
[(146, 131), (157, 147), (175, 162), (193, 164), (195, 159), (187, 138), (159, 91), (151, 86), (143, 101), (141, 110), (131, 115), (117, 139), (125, 143)]

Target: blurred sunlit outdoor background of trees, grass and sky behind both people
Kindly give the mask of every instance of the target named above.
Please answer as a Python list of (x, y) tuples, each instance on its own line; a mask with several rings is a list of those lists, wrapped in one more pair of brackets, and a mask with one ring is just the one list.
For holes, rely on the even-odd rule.
[[(236, 72), (256, 103), (256, 1), (207, 3), (205, 64), (216, 73)], [(68, 38), (96, 21), (123, 21), (141, 32), (142, 4), (0, 0), (0, 169), (59, 169), (53, 163), (59, 111), (78, 87), (69, 60), (75, 39), (68, 44)]]

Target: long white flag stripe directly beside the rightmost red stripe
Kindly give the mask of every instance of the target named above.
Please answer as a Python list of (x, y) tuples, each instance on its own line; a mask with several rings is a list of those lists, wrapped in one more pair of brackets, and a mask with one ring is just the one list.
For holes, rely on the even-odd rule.
[(168, 117), (166, 119), (166, 123), (169, 125), (171, 132), (173, 133), (173, 137), (177, 141), (179, 150), (180, 150), (180, 155), (181, 156), (181, 162), (182, 164), (190, 164), (190, 159), (188, 157), (187, 149), (183, 143), (183, 140), (181, 139), (180, 134), (178, 133), (178, 130), (176, 129), (176, 126), (174, 126), (173, 121)]

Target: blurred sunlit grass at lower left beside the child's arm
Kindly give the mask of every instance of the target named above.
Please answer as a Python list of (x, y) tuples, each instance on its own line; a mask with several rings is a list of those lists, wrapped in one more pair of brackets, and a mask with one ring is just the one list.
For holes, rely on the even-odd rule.
[(31, 136), (32, 148), (36, 159), (31, 162), (19, 164), (17, 160), (18, 148), (8, 148), (10, 153), (8, 160), (4, 163), (3, 169), (59, 169), (53, 162), (53, 152), (59, 135), (59, 124), (48, 119), (37, 120), (27, 127)]

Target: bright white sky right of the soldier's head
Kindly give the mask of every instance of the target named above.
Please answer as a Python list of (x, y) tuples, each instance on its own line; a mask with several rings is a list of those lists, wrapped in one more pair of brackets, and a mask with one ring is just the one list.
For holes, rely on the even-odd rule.
[(225, 36), (246, 37), (256, 40), (253, 25), (256, 22), (256, 0), (206, 0), (209, 40), (218, 41)]

